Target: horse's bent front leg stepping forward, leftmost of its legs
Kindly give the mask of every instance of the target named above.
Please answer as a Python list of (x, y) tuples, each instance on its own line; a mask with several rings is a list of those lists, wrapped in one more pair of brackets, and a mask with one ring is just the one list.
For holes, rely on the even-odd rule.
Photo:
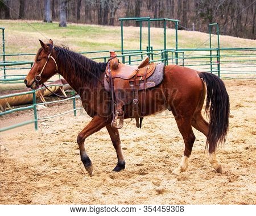
[(94, 132), (101, 130), (101, 128), (105, 126), (106, 119), (96, 115), (95, 117), (93, 117), (92, 121), (90, 121), (90, 123), (87, 124), (86, 127), (77, 136), (77, 143), (79, 144), (81, 160), (84, 164), (86, 171), (89, 173), (90, 176), (93, 176), (93, 165), (92, 161), (90, 161), (90, 158), (85, 151), (84, 142), (85, 139), (88, 138), (88, 136), (94, 134)]

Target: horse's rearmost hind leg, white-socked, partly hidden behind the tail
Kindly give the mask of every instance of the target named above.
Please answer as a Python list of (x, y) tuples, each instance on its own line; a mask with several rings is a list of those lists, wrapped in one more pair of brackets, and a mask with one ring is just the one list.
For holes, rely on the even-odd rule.
[[(204, 120), (202, 114), (201, 114), (201, 110), (197, 111), (192, 118), (192, 126), (196, 128), (196, 130), (202, 132), (206, 137), (208, 135), (208, 131), (209, 131), (209, 123), (207, 121)], [(221, 163), (218, 161), (217, 157), (216, 157), (216, 152), (211, 152), (209, 154), (209, 161), (210, 164), (212, 164), (213, 168), (218, 172), (218, 173), (222, 173), (222, 165)]]

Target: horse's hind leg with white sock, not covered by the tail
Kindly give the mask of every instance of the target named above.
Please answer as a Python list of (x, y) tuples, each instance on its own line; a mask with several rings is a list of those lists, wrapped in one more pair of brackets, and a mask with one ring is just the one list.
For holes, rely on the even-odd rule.
[(191, 155), (193, 144), (195, 142), (195, 135), (193, 134), (193, 130), (191, 127), (191, 117), (181, 117), (175, 116), (175, 120), (177, 122), (177, 126), (181, 135), (183, 136), (183, 140), (185, 143), (184, 155), (181, 159), (181, 163), (179, 167), (177, 167), (172, 173), (174, 175), (179, 176), (181, 172), (184, 172), (188, 168), (188, 158)]

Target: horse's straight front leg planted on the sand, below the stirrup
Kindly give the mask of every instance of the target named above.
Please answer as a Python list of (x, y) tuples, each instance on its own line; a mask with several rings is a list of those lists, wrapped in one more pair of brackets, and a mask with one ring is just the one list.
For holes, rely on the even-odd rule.
[(109, 131), (110, 138), (112, 140), (115, 151), (117, 152), (117, 165), (113, 169), (115, 172), (119, 172), (122, 169), (125, 169), (125, 157), (123, 157), (123, 152), (121, 148), (121, 140), (119, 137), (119, 132), (117, 128), (113, 128), (112, 126), (106, 126)]

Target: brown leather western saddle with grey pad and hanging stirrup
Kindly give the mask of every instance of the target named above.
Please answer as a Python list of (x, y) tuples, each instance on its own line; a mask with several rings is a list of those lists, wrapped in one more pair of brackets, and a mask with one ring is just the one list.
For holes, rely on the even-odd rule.
[[(159, 85), (163, 80), (164, 64), (149, 62), (146, 56), (138, 67), (119, 63), (114, 51), (110, 51), (110, 59), (105, 71), (104, 86), (112, 97), (112, 127), (123, 127), (123, 106), (133, 102), (132, 118), (141, 128), (145, 114), (146, 89)], [(143, 90), (143, 101), (138, 101), (139, 91)], [(144, 104), (143, 104), (144, 103)], [(139, 109), (143, 107), (143, 112)], [(144, 106), (143, 106), (144, 105)], [(119, 120), (119, 124), (117, 124)], [(140, 120), (140, 121), (139, 121)]]

